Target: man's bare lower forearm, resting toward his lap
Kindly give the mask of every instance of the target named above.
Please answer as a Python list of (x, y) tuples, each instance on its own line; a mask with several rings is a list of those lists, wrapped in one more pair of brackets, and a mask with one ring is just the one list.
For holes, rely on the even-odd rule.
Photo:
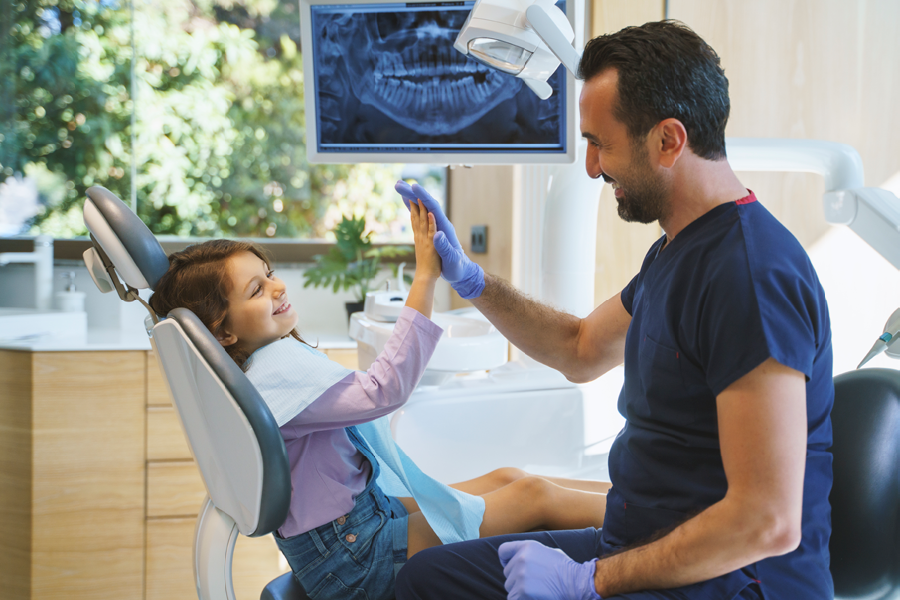
[(723, 500), (654, 542), (601, 558), (597, 593), (609, 598), (689, 585), (796, 547), (779, 523), (748, 512)]

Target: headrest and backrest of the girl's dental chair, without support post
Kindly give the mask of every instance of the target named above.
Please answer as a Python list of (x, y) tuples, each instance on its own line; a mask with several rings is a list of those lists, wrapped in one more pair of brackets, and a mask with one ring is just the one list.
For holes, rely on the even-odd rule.
[[(169, 267), (162, 246), (115, 194), (92, 187), (87, 195), (94, 266), (111, 263), (107, 272), (117, 289), (121, 278), (135, 292), (120, 293), (123, 299), (152, 290)], [(291, 484), (284, 440), (268, 406), (191, 311), (173, 310), (153, 326), (151, 341), (210, 499), (242, 534), (271, 533), (287, 517)]]

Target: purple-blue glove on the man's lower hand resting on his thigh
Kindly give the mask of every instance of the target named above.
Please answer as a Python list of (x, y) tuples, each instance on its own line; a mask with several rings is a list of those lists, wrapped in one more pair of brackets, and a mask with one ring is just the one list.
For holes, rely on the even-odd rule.
[(535, 542), (500, 544), (509, 600), (603, 600), (594, 588), (594, 563), (577, 563), (559, 548)]

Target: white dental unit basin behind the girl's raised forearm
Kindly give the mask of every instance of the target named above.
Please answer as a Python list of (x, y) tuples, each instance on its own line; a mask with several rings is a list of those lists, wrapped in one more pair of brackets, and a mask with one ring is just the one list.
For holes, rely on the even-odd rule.
[[(496, 369), (507, 361), (506, 338), (480, 313), (434, 313), (432, 320), (444, 330), (444, 335), (428, 361), (422, 385), (439, 385), (456, 373)], [(361, 369), (369, 368), (393, 330), (394, 323), (368, 319), (364, 313), (350, 316), (350, 337), (357, 341)]]

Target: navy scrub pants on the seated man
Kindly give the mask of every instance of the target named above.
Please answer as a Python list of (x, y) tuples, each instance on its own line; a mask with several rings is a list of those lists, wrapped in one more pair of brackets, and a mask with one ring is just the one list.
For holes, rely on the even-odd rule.
[[(560, 548), (577, 562), (602, 555), (600, 530), (541, 531), (470, 540), (423, 550), (413, 556), (397, 575), (397, 600), (506, 600), (503, 567), (497, 548), (504, 542), (536, 540)], [(729, 578), (728, 575), (724, 576)], [(712, 585), (709, 585), (712, 584)], [(731, 587), (731, 586), (728, 586)], [(716, 580), (673, 590), (636, 592), (615, 596), (628, 600), (709, 599), (759, 600), (759, 587), (751, 583), (736, 595), (723, 592)]]

